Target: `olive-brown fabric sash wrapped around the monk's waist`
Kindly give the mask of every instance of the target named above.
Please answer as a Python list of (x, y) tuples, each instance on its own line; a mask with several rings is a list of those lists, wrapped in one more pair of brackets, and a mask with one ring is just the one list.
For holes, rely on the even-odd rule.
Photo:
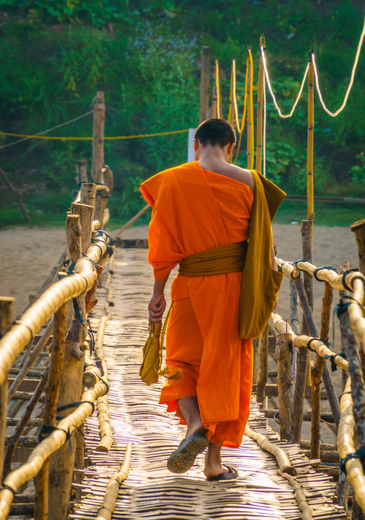
[(197, 277), (242, 272), (245, 267), (247, 245), (245, 240), (186, 256), (180, 262), (179, 274)]

